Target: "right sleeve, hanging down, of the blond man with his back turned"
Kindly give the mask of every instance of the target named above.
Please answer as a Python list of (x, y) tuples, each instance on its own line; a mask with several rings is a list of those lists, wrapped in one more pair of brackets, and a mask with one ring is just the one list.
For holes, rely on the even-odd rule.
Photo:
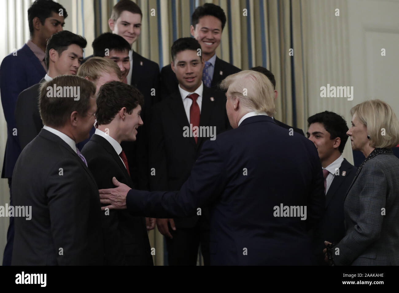
[(320, 222), (324, 215), (324, 206), (326, 204), (322, 165), (316, 148), (313, 144), (310, 147), (312, 147), (312, 149), (310, 149), (310, 158), (313, 165), (313, 176), (308, 197), (308, 216), (306, 224), (308, 230), (314, 228), (314, 226)]

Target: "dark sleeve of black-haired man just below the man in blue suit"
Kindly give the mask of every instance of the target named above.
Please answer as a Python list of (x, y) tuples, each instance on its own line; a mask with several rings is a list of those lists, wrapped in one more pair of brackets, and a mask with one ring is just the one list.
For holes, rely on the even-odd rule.
[[(34, 111), (36, 104), (30, 100), (32, 91), (23, 91), (18, 96), (15, 107), (15, 120), (21, 149), (29, 144), (40, 132), (37, 129)], [(33, 97), (36, 102), (36, 97)]]

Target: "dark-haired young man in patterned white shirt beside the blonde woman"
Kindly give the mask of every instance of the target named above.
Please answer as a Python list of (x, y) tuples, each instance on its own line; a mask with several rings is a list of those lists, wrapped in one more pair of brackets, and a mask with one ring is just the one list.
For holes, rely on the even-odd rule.
[(356, 168), (342, 157), (348, 140), (348, 126), (342, 116), (324, 111), (310, 116), (308, 124), (306, 136), (318, 151), (326, 195), (325, 213), (313, 231), (312, 246), (318, 265), (327, 265), (322, 253), (326, 248), (324, 241), (338, 243), (345, 236), (344, 199), (355, 177)]

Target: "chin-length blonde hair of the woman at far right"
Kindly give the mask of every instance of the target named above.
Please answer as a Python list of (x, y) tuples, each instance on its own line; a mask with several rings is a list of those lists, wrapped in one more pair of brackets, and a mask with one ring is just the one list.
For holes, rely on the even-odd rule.
[(350, 110), (367, 127), (371, 147), (392, 148), (399, 144), (399, 121), (391, 106), (381, 100), (368, 100)]

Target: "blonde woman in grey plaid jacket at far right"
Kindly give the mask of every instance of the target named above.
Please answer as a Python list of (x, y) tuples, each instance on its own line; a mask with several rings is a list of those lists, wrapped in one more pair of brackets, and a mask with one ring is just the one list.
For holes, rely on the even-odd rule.
[(336, 265), (399, 265), (399, 159), (391, 151), (399, 143), (399, 122), (381, 100), (358, 104), (351, 115), (347, 134), (352, 149), (360, 150), (366, 159), (344, 200), (346, 236), (333, 248), (333, 261)]

